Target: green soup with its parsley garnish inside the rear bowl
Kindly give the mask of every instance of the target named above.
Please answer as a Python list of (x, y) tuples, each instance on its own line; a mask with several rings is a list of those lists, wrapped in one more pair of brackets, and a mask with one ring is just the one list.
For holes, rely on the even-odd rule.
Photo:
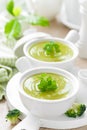
[(29, 47), (29, 55), (45, 62), (68, 60), (73, 56), (73, 50), (66, 44), (57, 41), (43, 41)]

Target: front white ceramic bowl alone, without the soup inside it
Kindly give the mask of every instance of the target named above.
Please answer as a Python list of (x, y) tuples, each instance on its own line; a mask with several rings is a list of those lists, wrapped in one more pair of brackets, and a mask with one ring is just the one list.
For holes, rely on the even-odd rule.
[[(72, 89), (70, 91), (70, 94), (68, 94), (67, 97), (64, 97), (62, 99), (57, 99), (57, 100), (38, 99), (26, 94), (26, 92), (24, 92), (22, 87), (23, 81), (29, 76), (38, 73), (44, 73), (44, 72), (60, 74), (68, 78), (68, 80), (70, 80), (72, 84)], [(21, 75), (21, 78), (18, 83), (19, 83), (18, 91), (24, 106), (33, 115), (45, 119), (55, 118), (63, 114), (68, 108), (70, 108), (76, 99), (76, 95), (79, 89), (78, 80), (71, 73), (53, 67), (41, 67), (41, 68), (27, 70)]]

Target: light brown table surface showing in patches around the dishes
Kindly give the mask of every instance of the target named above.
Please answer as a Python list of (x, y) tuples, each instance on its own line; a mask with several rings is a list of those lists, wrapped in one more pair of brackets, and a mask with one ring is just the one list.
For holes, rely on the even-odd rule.
[[(53, 20), (49, 27), (37, 27), (38, 31), (49, 33), (53, 36), (64, 38), (69, 32), (69, 28), (65, 27), (61, 22)], [(80, 68), (87, 68), (87, 60), (80, 59), (79, 57), (76, 60), (76, 66)], [(6, 100), (0, 102), (0, 130), (11, 130), (13, 126), (9, 122), (6, 122), (5, 116), (8, 112), (8, 106)], [(40, 130), (53, 130), (47, 128), (40, 128)], [(59, 129), (58, 129), (59, 130)], [(76, 129), (70, 130), (87, 130), (87, 126), (83, 126)]]

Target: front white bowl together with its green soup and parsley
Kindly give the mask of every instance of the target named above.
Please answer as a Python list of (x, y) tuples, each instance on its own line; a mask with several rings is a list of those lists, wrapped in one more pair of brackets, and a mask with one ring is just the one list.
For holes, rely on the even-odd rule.
[(39, 67), (21, 74), (19, 95), (24, 106), (40, 118), (55, 118), (74, 103), (78, 80), (56, 67)]

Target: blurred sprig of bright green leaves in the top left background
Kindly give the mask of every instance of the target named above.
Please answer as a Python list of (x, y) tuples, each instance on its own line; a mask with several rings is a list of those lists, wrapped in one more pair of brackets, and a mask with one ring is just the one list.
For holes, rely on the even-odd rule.
[[(20, 38), (22, 34), (22, 27), (20, 22), (22, 20), (25, 20), (23, 22), (26, 23), (26, 20), (29, 24), (31, 25), (40, 25), (40, 26), (47, 26), (49, 25), (48, 20), (45, 17), (34, 15), (34, 14), (29, 14), (27, 17), (17, 17), (21, 14), (21, 8), (20, 7), (15, 7), (14, 0), (9, 0), (6, 6), (7, 11), (14, 17), (14, 19), (10, 20), (9, 22), (6, 23), (4, 32), (9, 39), (18, 39)], [(20, 22), (19, 22), (20, 21)]]

